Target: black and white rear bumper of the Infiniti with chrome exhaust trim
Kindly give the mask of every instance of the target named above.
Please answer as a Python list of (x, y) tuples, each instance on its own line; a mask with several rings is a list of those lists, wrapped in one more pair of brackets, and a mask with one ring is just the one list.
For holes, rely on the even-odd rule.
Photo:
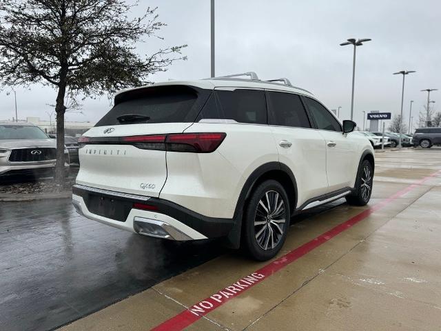
[[(84, 185), (74, 185), (72, 192), (72, 204), (76, 211), (88, 219), (150, 237), (172, 240), (225, 237), (232, 230), (234, 223), (233, 219), (205, 217), (164, 199), (101, 190)], [(93, 205), (97, 198), (110, 201), (108, 202), (110, 205), (107, 205), (103, 212), (91, 211), (97, 210), (96, 205)], [(134, 203), (147, 203), (156, 210), (135, 208)]]

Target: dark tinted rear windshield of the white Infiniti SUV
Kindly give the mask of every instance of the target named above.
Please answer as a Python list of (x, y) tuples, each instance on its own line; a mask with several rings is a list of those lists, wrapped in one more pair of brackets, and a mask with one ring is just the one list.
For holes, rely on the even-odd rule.
[[(189, 86), (156, 86), (125, 92), (115, 98), (116, 106), (96, 126), (194, 122), (201, 110), (202, 100), (198, 99), (203, 99), (205, 93), (202, 91)], [(125, 117), (125, 121), (121, 121), (123, 115), (138, 117)]]

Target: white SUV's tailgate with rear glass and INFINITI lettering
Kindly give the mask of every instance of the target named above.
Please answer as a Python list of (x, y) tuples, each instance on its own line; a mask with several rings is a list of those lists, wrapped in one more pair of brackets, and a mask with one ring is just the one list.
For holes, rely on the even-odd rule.
[(165, 135), (188, 128), (210, 93), (154, 86), (119, 94), (110, 112), (82, 137), (76, 183), (158, 197), (167, 179)]

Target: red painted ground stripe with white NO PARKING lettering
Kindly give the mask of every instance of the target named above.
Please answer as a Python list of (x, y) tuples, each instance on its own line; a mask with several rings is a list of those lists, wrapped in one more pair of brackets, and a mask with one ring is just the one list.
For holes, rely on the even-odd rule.
[(226, 288), (220, 290), (219, 292), (213, 294), (211, 297), (208, 297), (207, 299), (204, 299), (199, 303), (196, 303), (196, 305), (193, 305), (191, 308), (184, 310), (183, 312), (177, 314), (175, 317), (168, 319), (167, 321), (161, 323), (152, 330), (180, 331), (183, 330), (184, 328), (187, 328), (187, 326), (198, 321), (198, 319), (201, 319), (201, 317), (203, 317), (205, 314), (212, 312), (216, 308), (220, 307), (220, 305), (223, 305), (225, 302), (229, 301), (230, 299), (237, 297), (239, 294), (242, 294), (249, 288), (252, 288), (257, 283), (260, 283), (261, 281), (265, 280), (267, 277), (271, 276), (271, 274), (274, 274), (278, 272), (278, 270), (285, 268), (285, 266), (296, 261), (297, 259), (307, 254), (308, 252), (311, 252), (311, 250), (314, 250), (314, 248), (317, 248), (318, 246), (322, 245), (322, 243), (329, 241), (330, 239), (336, 237), (337, 234), (340, 234), (341, 232), (351, 228), (352, 225), (355, 225), (356, 223), (362, 221), (363, 219), (366, 219), (370, 214), (376, 212), (377, 210), (380, 210), (385, 205), (391, 203), (394, 199), (402, 197), (404, 194), (422, 185), (422, 183), (424, 183), (431, 177), (434, 177), (438, 173), (441, 173), (441, 170), (438, 172), (434, 172), (428, 177), (424, 177), (420, 181), (413, 183), (407, 186), (407, 188), (404, 188), (396, 192), (395, 194), (391, 195), (391, 197), (384, 199), (379, 203), (376, 203), (375, 205), (373, 205), (372, 207), (366, 210), (363, 210), (362, 212), (360, 212), (360, 214), (351, 217), (351, 219), (343, 223), (340, 223), (339, 225), (336, 225), (331, 230), (323, 234), (320, 234), (320, 236), (312, 239), (311, 241), (308, 241), (307, 243), (301, 245), (300, 247), (291, 250), (291, 252), (288, 252), (287, 254), (283, 255), (283, 257), (279, 257), (278, 259), (265, 265), (263, 268), (260, 268), (259, 270), (256, 270), (252, 274), (249, 274), (247, 277), (243, 277), (242, 279), (239, 279), (238, 281), (236, 281), (236, 283), (229, 285)]

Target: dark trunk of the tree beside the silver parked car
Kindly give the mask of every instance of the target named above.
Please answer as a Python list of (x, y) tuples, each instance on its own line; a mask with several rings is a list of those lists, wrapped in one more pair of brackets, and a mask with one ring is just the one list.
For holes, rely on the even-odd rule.
[(55, 181), (62, 184), (65, 177), (64, 170), (64, 113), (66, 107), (64, 106), (64, 97), (66, 93), (66, 86), (61, 83), (57, 94), (57, 102), (55, 104), (55, 112), (57, 113), (57, 165), (55, 166)]

